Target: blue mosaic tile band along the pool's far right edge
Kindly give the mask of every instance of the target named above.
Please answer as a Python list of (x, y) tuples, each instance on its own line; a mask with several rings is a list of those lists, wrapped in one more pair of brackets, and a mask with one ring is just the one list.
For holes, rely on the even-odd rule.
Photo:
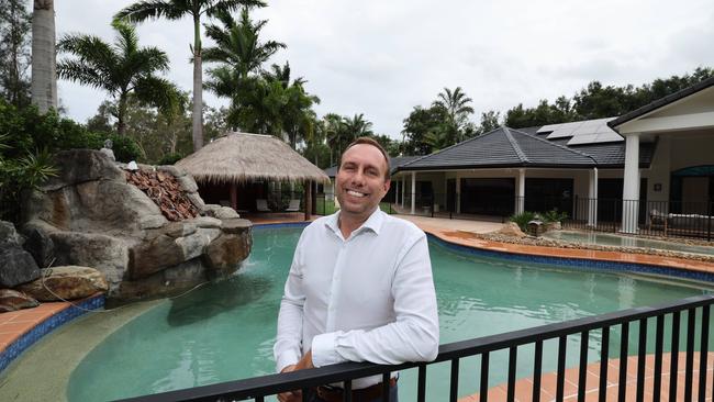
[(582, 268), (588, 270), (595, 269), (595, 270), (604, 270), (611, 272), (636, 272), (636, 273), (645, 273), (645, 275), (666, 276), (666, 277), (674, 277), (674, 278), (687, 279), (687, 280), (695, 280), (700, 282), (714, 283), (714, 273), (712, 272), (662, 267), (662, 266), (648, 265), (648, 264), (605, 261), (605, 260), (588, 259), (588, 258), (535, 256), (535, 255), (515, 254), (509, 252), (497, 252), (497, 250), (473, 248), (473, 247), (449, 243), (431, 233), (428, 233), (427, 236), (431, 241), (444, 247), (447, 247), (449, 249), (454, 249), (457, 252), (476, 255), (480, 257), (494, 257), (494, 258), (504, 258), (513, 261), (556, 265), (561, 267), (568, 267), (571, 269)]

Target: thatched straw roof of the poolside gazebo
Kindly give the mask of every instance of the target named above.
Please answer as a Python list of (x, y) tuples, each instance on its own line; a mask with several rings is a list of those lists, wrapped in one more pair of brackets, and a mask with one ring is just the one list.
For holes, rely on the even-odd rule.
[(316, 181), (327, 183), (322, 169), (271, 135), (230, 133), (176, 163), (201, 183)]

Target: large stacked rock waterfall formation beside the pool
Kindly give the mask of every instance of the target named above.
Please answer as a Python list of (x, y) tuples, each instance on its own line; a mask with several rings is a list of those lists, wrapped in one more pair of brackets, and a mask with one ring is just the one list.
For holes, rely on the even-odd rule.
[(99, 269), (110, 299), (176, 294), (234, 273), (249, 254), (250, 222), (232, 209), (204, 204), (196, 181), (174, 166), (140, 165), (146, 172), (141, 176), (168, 175), (201, 215), (170, 222), (127, 182), (126, 166), (100, 152), (63, 152), (55, 161), (59, 175), (33, 191), (24, 209), (27, 248), (42, 265)]

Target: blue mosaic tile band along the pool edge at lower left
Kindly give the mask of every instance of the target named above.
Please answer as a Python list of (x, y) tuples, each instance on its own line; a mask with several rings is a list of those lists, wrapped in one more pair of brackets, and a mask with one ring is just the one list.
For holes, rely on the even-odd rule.
[(85, 314), (87, 312), (86, 310), (102, 309), (104, 306), (104, 295), (96, 295), (91, 299), (82, 301), (77, 305), (79, 309), (71, 305), (68, 309), (65, 309), (43, 321), (37, 326), (23, 334), (4, 350), (2, 350), (0, 353), (0, 371), (4, 370), (12, 362), (12, 360), (18, 358), (20, 354), (25, 351), (35, 342), (40, 340), (43, 336), (49, 334), (63, 324), (66, 324), (69, 321)]

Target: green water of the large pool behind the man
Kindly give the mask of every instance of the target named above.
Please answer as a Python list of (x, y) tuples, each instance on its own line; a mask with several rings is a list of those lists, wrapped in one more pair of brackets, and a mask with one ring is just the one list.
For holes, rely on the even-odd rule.
[[(272, 373), (279, 302), (300, 232), (255, 230), (238, 275), (167, 300), (116, 330), (71, 373), (67, 398), (113, 400)], [(443, 344), (712, 292), (703, 284), (476, 257), (436, 243), (429, 249)], [(618, 350), (616, 328), (611, 338), (610, 350)], [(598, 360), (598, 333), (589, 346), (590, 360)], [(555, 369), (555, 350), (546, 343), (544, 370)], [(568, 350), (573, 366), (578, 339), (568, 338)], [(518, 349), (518, 377), (529, 375), (531, 355), (532, 348)], [(505, 380), (505, 354), (491, 362), (493, 386)], [(461, 360), (460, 395), (478, 391), (477, 368), (478, 358)], [(448, 376), (448, 365), (429, 366), (427, 400), (446, 400)], [(413, 370), (401, 373), (402, 401), (415, 399), (415, 378)]]

